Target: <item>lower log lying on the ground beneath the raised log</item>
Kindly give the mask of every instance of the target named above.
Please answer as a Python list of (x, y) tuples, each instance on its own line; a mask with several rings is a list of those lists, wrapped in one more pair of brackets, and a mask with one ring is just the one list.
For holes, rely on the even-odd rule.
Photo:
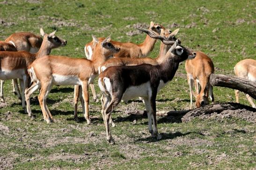
[(246, 109), (251, 112), (256, 113), (256, 109), (250, 106), (245, 106), (239, 103), (218, 103), (213, 105), (207, 105), (204, 107), (199, 107), (197, 109), (191, 110), (190, 112), (186, 113), (182, 117), (182, 122), (189, 122), (191, 119), (198, 117), (202, 114), (211, 114), (211, 113), (221, 113), (225, 110), (237, 110), (237, 109)]

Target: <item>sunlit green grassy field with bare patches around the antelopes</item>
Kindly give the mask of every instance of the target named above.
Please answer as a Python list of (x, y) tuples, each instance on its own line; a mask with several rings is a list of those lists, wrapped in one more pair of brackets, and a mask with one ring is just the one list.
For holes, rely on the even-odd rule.
[[(111, 34), (113, 40), (141, 43), (144, 34), (135, 25), (150, 21), (175, 30), (185, 47), (201, 50), (212, 58), (215, 73), (234, 74), (234, 65), (256, 59), (255, 0), (4, 0), (0, 1), (0, 40), (19, 31), (39, 34), (57, 29), (67, 46), (52, 55), (85, 57), (84, 44), (91, 34)], [(176, 23), (176, 24), (175, 24)], [(135, 24), (135, 25), (134, 25)], [(135, 32), (136, 33), (136, 32)], [(156, 57), (157, 42), (150, 57)], [(157, 96), (157, 110), (183, 110), (190, 105), (184, 63)], [(97, 79), (95, 80), (97, 82)], [(98, 94), (99, 88), (96, 85)], [(73, 120), (73, 87), (53, 87), (48, 107), (56, 122), (47, 124), (37, 100), (31, 99), (35, 120), (24, 113), (4, 86), (6, 103), (0, 104), (0, 169), (254, 169), (255, 124), (239, 118), (180, 119), (159, 117), (163, 139), (151, 138), (144, 105), (132, 100), (121, 103), (112, 114), (111, 129), (116, 145), (105, 140), (101, 104), (90, 99), (92, 124), (87, 125), (79, 107), (80, 122)], [(214, 87), (216, 102), (235, 101), (234, 90)], [(91, 94), (91, 93), (90, 93)], [(241, 103), (249, 105), (241, 93)], [(92, 97), (92, 95), (91, 95)], [(128, 109), (127, 109), (128, 108)]]

